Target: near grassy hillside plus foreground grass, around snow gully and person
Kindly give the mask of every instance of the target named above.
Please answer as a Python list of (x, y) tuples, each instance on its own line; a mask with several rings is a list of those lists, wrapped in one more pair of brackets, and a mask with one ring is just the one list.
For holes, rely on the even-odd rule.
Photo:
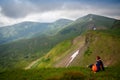
[[(85, 36), (84, 36), (85, 35)], [(84, 54), (78, 55), (67, 68), (55, 66), (65, 56), (80, 49), (85, 44)], [(1, 80), (119, 80), (120, 75), (120, 30), (89, 31), (75, 39), (65, 40), (56, 45), (33, 69), (0, 70)], [(94, 63), (100, 55), (108, 67), (105, 71), (93, 73), (86, 65)], [(42, 62), (41, 62), (42, 61)], [(44, 67), (44, 68), (41, 68)], [(46, 68), (45, 68), (46, 66)], [(73, 67), (77, 66), (77, 67)], [(85, 67), (80, 67), (85, 66)], [(37, 69), (36, 69), (37, 68)]]

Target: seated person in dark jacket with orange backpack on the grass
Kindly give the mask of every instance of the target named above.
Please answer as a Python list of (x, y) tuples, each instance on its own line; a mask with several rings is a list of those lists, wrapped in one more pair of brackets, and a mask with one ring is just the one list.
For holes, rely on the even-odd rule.
[(96, 57), (96, 63), (88, 66), (93, 72), (104, 71), (104, 65), (99, 56)]

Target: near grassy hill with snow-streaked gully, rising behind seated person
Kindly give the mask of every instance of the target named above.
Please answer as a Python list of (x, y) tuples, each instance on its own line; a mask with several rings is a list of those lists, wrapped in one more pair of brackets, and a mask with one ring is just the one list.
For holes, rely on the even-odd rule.
[(95, 63), (98, 55), (104, 61), (104, 66), (120, 66), (119, 48), (120, 29), (90, 30), (74, 39), (57, 44), (31, 68), (86, 67)]

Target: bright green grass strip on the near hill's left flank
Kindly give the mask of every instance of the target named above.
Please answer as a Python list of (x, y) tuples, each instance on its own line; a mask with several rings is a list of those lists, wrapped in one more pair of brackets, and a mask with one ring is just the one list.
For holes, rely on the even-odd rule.
[(55, 61), (58, 61), (62, 55), (72, 45), (72, 40), (65, 40), (57, 44), (52, 50), (50, 50), (45, 56), (43, 56), (32, 68), (36, 67), (52, 67)]

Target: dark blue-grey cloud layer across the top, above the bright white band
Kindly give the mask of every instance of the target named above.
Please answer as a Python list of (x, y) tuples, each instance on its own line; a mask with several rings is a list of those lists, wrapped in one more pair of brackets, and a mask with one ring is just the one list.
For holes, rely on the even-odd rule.
[(119, 0), (0, 0), (0, 7), (3, 15), (14, 19), (55, 10), (93, 10), (120, 16)]

